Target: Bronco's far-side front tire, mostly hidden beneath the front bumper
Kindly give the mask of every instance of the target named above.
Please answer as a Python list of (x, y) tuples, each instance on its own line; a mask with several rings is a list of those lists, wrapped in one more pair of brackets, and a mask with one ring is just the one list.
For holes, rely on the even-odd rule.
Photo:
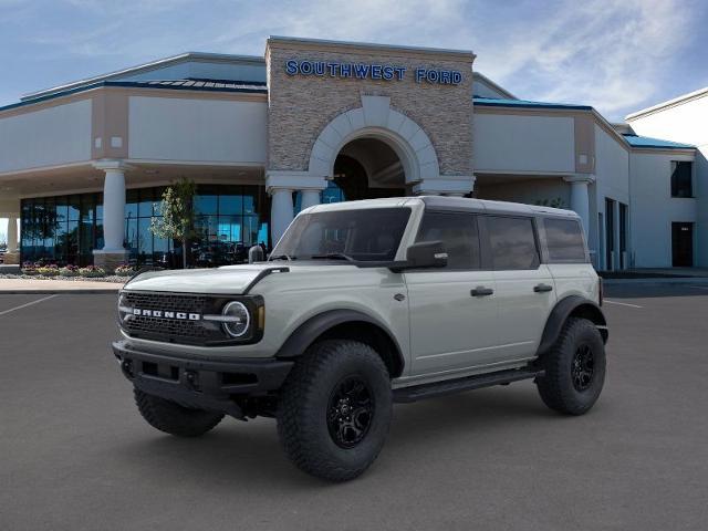
[(134, 388), (135, 404), (147, 424), (178, 437), (199, 437), (221, 421), (223, 415), (189, 409), (165, 398)]

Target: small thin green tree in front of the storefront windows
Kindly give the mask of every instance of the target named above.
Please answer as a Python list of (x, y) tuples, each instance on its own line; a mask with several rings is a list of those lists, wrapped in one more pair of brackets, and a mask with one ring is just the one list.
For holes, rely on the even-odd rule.
[(187, 269), (187, 242), (194, 236), (194, 197), (197, 185), (185, 177), (167, 187), (163, 204), (158, 206), (162, 218), (150, 220), (150, 232), (158, 238), (181, 242), (181, 263)]

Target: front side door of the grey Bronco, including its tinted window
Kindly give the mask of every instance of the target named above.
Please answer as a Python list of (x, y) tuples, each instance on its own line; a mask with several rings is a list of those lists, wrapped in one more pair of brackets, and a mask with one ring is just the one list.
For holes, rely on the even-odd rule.
[(442, 241), (444, 269), (408, 271), (413, 375), (450, 373), (496, 357), (493, 273), (481, 271), (477, 216), (426, 211), (417, 241)]

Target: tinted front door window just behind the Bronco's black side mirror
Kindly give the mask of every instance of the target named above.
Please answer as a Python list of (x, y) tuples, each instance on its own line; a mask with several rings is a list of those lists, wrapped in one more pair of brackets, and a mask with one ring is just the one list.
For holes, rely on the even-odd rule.
[(477, 217), (471, 214), (426, 211), (416, 241), (441, 241), (448, 269), (479, 269)]

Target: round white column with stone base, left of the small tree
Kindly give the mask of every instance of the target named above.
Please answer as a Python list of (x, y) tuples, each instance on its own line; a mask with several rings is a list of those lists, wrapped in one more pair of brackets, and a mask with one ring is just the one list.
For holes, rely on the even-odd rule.
[(100, 160), (94, 167), (105, 171), (103, 181), (103, 249), (93, 251), (94, 264), (107, 271), (124, 263), (127, 251), (125, 241), (125, 171), (122, 160)]

